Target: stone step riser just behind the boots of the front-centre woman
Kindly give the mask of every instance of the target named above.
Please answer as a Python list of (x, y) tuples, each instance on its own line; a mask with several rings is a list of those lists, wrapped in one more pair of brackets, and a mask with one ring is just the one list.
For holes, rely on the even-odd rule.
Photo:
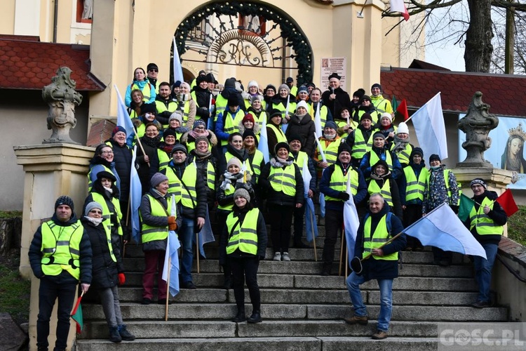
[[(252, 311), (250, 304), (245, 305), (247, 314)], [(376, 317), (379, 313), (379, 305), (368, 305), (367, 311), (371, 317)], [(161, 320), (164, 319), (164, 305), (140, 305), (140, 304), (121, 304), (123, 319), (133, 320)], [(289, 319), (320, 319), (320, 320), (341, 320), (350, 317), (353, 312), (349, 303), (334, 305), (317, 304), (262, 304), (262, 317), (265, 320), (289, 320)], [(178, 320), (229, 320), (236, 314), (234, 303), (208, 303), (208, 304), (189, 304), (175, 303), (168, 309), (169, 319)], [(104, 320), (102, 306), (89, 305), (83, 306), (83, 316), (88, 320)], [(189, 317), (191, 316), (191, 317)], [(414, 306), (393, 304), (393, 321), (422, 321), (422, 322), (445, 322), (445, 321), (500, 321), (508, 319), (508, 310), (505, 307), (487, 307), (476, 309), (467, 306)]]

